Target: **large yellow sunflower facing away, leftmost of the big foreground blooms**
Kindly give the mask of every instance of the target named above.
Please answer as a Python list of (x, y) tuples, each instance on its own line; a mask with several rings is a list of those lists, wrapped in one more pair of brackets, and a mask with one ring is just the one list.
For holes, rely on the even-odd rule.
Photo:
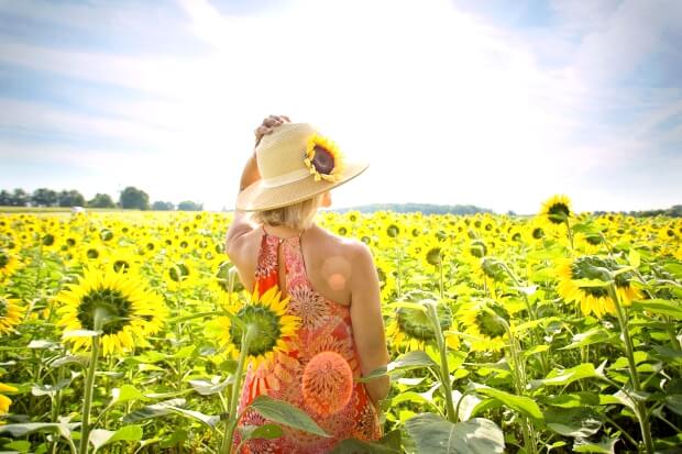
[[(57, 296), (63, 304), (57, 325), (65, 331), (94, 331), (96, 318), (101, 318), (105, 355), (132, 350), (135, 342), (146, 345), (145, 337), (158, 332), (168, 314), (163, 299), (131, 273), (86, 268), (79, 281), (67, 287)], [(90, 337), (72, 337), (74, 350), (89, 347), (90, 342)]]

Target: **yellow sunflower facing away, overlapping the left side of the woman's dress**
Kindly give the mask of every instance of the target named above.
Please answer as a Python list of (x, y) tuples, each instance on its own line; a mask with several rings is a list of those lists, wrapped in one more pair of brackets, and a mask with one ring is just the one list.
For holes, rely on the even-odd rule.
[[(278, 353), (288, 353), (288, 339), (300, 325), (300, 319), (287, 314), (289, 297), (280, 299), (277, 286), (258, 296), (257, 286), (250, 301), (234, 310), (234, 315), (255, 331), (249, 344), (248, 357), (254, 367), (268, 366)], [(219, 317), (209, 322), (208, 334), (217, 339), (221, 347), (233, 358), (239, 356), (242, 330), (232, 323), (230, 317)]]

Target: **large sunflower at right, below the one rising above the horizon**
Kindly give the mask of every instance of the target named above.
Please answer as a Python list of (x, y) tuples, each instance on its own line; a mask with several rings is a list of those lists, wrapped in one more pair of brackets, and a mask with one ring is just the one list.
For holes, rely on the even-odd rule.
[[(616, 306), (608, 295), (607, 283), (612, 272), (622, 268), (614, 259), (596, 255), (585, 255), (575, 259), (563, 261), (559, 264), (557, 274), (559, 285), (557, 291), (566, 301), (580, 303), (583, 314), (594, 313), (602, 317), (605, 313), (615, 313)], [(615, 277), (618, 299), (625, 306), (641, 295), (630, 285), (632, 273), (620, 273)], [(581, 279), (602, 280), (603, 287), (581, 285)]]

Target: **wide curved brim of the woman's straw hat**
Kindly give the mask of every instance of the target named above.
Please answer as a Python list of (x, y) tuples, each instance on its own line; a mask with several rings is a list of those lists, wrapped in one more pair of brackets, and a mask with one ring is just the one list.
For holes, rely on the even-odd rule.
[(316, 181), (312, 175), (288, 185), (267, 188), (257, 180), (237, 196), (237, 209), (241, 211), (263, 211), (287, 207), (310, 199), (355, 178), (370, 165), (362, 162), (345, 163), (343, 176), (338, 181)]

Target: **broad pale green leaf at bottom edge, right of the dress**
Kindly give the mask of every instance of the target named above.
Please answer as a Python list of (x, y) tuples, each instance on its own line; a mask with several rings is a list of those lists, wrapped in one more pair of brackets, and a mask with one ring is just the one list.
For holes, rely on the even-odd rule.
[(493, 454), (505, 449), (502, 430), (483, 418), (453, 424), (437, 414), (421, 413), (409, 419), (405, 427), (421, 453)]

